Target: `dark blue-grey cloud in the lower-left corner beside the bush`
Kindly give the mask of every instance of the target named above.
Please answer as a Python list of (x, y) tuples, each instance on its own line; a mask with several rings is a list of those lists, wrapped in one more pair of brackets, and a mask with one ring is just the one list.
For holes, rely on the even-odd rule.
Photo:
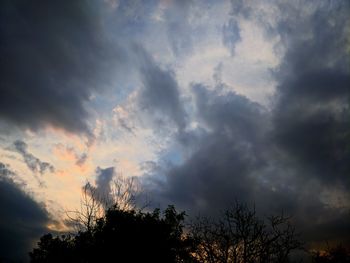
[(14, 173), (0, 163), (0, 260), (27, 261), (35, 241), (48, 231), (49, 216), (9, 174)]

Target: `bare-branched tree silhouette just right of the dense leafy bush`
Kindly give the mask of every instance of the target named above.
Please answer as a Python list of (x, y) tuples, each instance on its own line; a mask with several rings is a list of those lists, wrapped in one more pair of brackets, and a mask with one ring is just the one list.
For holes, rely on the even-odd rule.
[(217, 221), (201, 217), (191, 226), (195, 256), (209, 263), (282, 263), (301, 247), (288, 217), (257, 217), (255, 209), (236, 204)]

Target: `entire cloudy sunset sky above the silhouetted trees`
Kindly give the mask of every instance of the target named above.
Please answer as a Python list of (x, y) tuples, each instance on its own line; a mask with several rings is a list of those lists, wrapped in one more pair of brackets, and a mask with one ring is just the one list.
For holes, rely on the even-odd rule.
[(5, 0), (0, 254), (65, 229), (88, 182), (154, 207), (283, 211), (350, 245), (350, 4)]

